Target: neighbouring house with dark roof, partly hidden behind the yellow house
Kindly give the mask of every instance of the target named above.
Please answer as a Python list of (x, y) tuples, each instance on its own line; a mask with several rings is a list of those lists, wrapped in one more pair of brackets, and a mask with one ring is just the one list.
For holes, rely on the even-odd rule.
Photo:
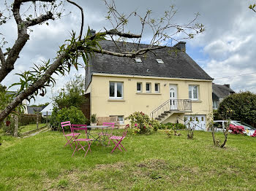
[(214, 109), (218, 109), (219, 103), (228, 95), (235, 93), (230, 85), (217, 85), (212, 83), (212, 105)]

